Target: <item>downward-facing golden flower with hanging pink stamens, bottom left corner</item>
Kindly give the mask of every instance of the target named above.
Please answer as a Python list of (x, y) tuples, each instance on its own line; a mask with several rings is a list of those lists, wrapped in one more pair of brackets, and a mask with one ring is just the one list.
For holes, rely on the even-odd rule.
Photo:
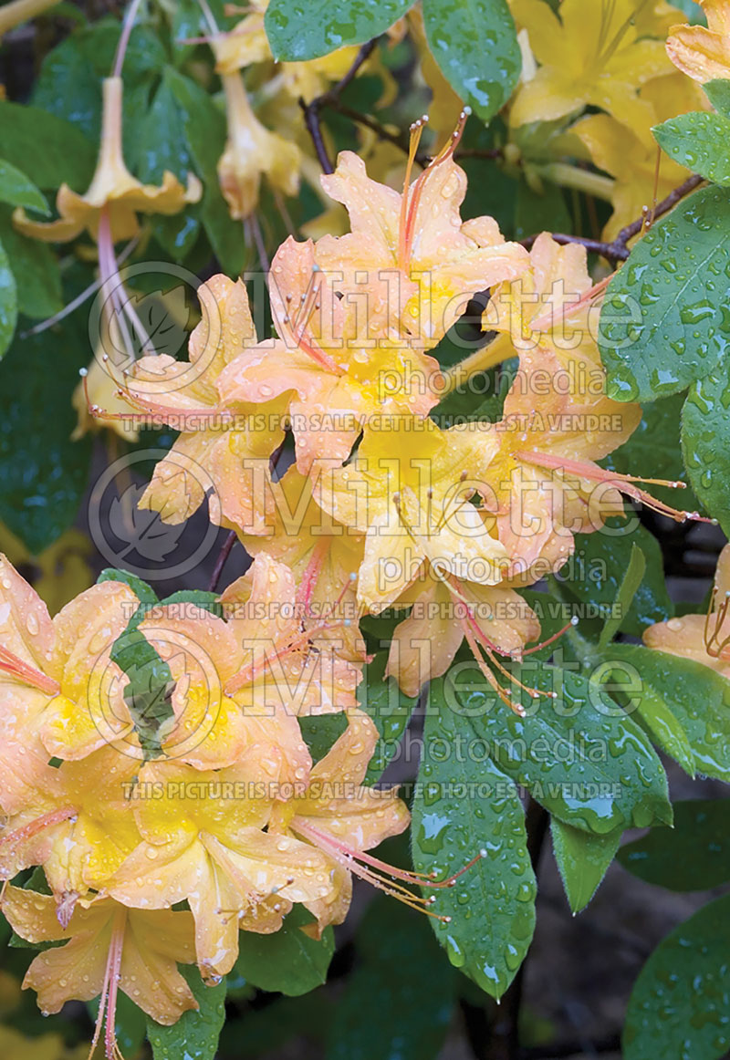
[(23, 987), (36, 991), (46, 1013), (60, 1011), (67, 1001), (101, 995), (92, 1053), (106, 1023), (106, 1056), (120, 1056), (115, 1039), (120, 990), (163, 1025), (198, 1007), (177, 969), (178, 962), (195, 959), (190, 913), (149, 913), (94, 898), (80, 902), (62, 924), (51, 896), (12, 886), (5, 887), (1, 907), (14, 931), (29, 942), (67, 940), (34, 958)]

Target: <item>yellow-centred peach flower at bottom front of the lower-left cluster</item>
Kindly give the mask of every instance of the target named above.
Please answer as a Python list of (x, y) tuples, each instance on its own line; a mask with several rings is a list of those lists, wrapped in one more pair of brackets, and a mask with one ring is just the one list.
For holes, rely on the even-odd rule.
[[(143, 841), (107, 885), (133, 908), (162, 909), (187, 899), (205, 977), (236, 962), (239, 929), (272, 932), (292, 902), (311, 902), (331, 884), (327, 859), (295, 838), (262, 831), (277, 775), (259, 748), (227, 770), (196, 772), (147, 762), (135, 815)], [(145, 792), (158, 792), (144, 797)]]

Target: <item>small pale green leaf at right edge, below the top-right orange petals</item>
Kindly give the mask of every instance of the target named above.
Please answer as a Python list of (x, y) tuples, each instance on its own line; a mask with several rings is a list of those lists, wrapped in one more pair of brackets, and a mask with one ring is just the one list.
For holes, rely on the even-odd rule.
[(670, 158), (715, 184), (730, 184), (730, 120), (703, 110), (671, 118), (651, 129)]

